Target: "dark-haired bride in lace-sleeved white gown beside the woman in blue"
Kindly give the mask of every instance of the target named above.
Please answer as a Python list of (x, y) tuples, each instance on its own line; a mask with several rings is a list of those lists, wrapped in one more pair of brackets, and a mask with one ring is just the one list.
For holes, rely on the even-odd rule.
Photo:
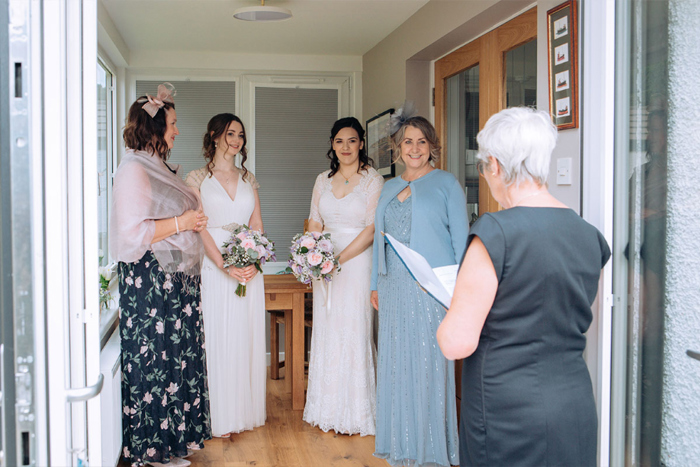
[[(309, 231), (330, 232), (341, 271), (330, 285), (314, 283), (313, 334), (304, 420), (323, 431), (374, 435), (376, 348), (372, 337), (370, 274), (374, 211), (384, 179), (364, 148), (355, 118), (331, 130), (331, 170), (316, 178)], [(204, 211), (206, 214), (206, 209)], [(211, 217), (209, 223), (211, 224)], [(212, 407), (212, 411), (214, 408)]]

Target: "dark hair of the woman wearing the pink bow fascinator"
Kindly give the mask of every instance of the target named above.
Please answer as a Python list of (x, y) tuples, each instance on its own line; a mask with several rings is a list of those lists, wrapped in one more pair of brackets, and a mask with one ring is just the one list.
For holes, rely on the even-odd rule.
[(155, 117), (151, 117), (143, 109), (148, 97), (141, 96), (131, 104), (129, 115), (124, 126), (124, 145), (134, 151), (150, 151), (165, 160), (170, 157), (170, 148), (165, 141), (165, 131), (168, 129), (166, 110), (174, 109), (175, 104), (164, 102)]

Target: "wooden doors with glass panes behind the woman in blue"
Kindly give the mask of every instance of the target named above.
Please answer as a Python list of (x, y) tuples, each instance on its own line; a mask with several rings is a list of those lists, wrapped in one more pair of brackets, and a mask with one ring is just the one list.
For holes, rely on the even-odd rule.
[(500, 207), (476, 170), (476, 135), (491, 115), (537, 102), (537, 8), (435, 62), (440, 167), (462, 183), (470, 225)]

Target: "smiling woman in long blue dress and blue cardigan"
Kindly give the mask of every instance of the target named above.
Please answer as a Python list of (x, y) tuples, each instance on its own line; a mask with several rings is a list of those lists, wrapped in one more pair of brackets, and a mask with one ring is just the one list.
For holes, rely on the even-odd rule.
[(432, 267), (456, 264), (468, 223), (464, 190), (435, 169), (440, 145), (423, 117), (399, 110), (392, 148), (405, 171), (384, 185), (375, 217), (372, 305), (379, 312), (377, 433), (374, 455), (391, 465), (459, 461), (454, 364), (435, 338), (445, 309), (421, 290), (382, 232), (421, 253)]

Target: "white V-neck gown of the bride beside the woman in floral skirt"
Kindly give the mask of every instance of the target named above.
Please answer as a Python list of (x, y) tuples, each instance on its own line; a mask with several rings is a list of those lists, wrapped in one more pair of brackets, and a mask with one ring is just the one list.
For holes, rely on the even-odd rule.
[[(257, 182), (249, 176), (250, 181)], [(207, 230), (221, 249), (231, 233), (222, 227), (249, 224), (255, 209), (253, 186), (238, 176), (233, 200), (216, 177), (200, 186)], [(235, 294), (238, 281), (205, 256), (202, 307), (207, 351), (211, 431), (214, 436), (252, 430), (265, 423), (265, 290), (262, 274)]]

